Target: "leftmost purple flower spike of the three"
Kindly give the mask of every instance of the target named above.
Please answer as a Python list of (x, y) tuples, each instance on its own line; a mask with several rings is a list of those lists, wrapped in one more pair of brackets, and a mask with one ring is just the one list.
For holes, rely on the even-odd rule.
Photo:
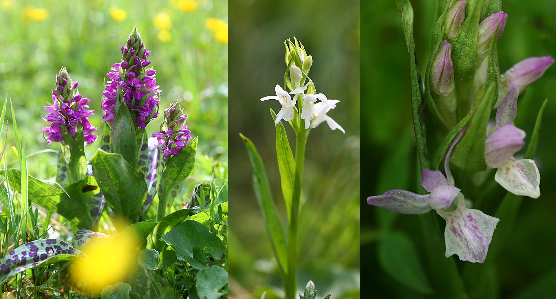
[(93, 111), (88, 110), (88, 98), (83, 98), (77, 90), (79, 83), (73, 82), (69, 77), (66, 67), (62, 67), (58, 76), (56, 76), (56, 88), (52, 89), (52, 106), (44, 106), (49, 113), (44, 118), (50, 123), (49, 127), (43, 127), (42, 131), (46, 133), (44, 137), (48, 144), (52, 142), (63, 142), (62, 126), (64, 126), (71, 136), (75, 138), (76, 132), (83, 131), (85, 137), (85, 145), (95, 142), (97, 135), (93, 132), (97, 128), (92, 126), (89, 118), (93, 115)]

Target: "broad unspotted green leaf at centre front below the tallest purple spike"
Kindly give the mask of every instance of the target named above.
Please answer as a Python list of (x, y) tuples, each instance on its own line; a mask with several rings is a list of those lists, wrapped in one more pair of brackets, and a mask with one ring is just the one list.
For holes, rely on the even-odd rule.
[(98, 186), (114, 213), (126, 217), (131, 223), (136, 222), (147, 193), (145, 180), (118, 153), (97, 150), (91, 158), (91, 165)]

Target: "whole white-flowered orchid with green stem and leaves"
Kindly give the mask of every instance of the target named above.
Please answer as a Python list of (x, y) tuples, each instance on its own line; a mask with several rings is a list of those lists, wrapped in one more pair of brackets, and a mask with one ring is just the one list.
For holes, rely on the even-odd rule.
[[(281, 104), (280, 111), (270, 109), (276, 126), (276, 155), (280, 170), (282, 193), (288, 214), (287, 242), (282, 225), (277, 216), (276, 206), (272, 200), (270, 184), (264, 169), (264, 163), (250, 139), (244, 139), (247, 153), (253, 168), (253, 189), (255, 197), (265, 218), (272, 247), (280, 266), (284, 282), (285, 297), (294, 298), (297, 290), (297, 225), (301, 206), (301, 182), (305, 160), (305, 145), (312, 128), (326, 122), (332, 129), (345, 133), (337, 122), (327, 113), (336, 108), (337, 99), (328, 99), (325, 94), (317, 93), (315, 84), (309, 77), (312, 57), (307, 55), (301, 42), (294, 38), (284, 42), (286, 47), (286, 72), (284, 87), (275, 86), (275, 96), (262, 97), (261, 101), (276, 99)], [(289, 90), (289, 92), (286, 91)], [(282, 120), (287, 121), (296, 134), (295, 159)], [(312, 282), (307, 286), (312, 285)], [(312, 285), (314, 288), (314, 285)], [(302, 297), (302, 296), (301, 296)], [(327, 296), (326, 298), (330, 297)]]

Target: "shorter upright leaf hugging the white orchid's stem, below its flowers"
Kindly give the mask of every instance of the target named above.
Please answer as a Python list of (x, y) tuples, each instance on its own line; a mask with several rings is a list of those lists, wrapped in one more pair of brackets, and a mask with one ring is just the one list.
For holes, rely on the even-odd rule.
[[(270, 108), (272, 119), (276, 121), (276, 113)], [(291, 205), (294, 197), (295, 182), (295, 160), (291, 152), (290, 142), (287, 139), (286, 128), (282, 122), (276, 124), (276, 156), (278, 158), (278, 168), (280, 171), (280, 181), (282, 183), (282, 194), (286, 203), (287, 218), (291, 222)]]

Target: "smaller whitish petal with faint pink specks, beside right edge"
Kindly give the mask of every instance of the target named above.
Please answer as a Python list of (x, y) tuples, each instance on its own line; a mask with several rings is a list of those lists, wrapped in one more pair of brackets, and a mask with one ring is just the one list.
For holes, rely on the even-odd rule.
[(510, 158), (498, 167), (494, 180), (515, 195), (540, 196), (540, 173), (533, 160)]

